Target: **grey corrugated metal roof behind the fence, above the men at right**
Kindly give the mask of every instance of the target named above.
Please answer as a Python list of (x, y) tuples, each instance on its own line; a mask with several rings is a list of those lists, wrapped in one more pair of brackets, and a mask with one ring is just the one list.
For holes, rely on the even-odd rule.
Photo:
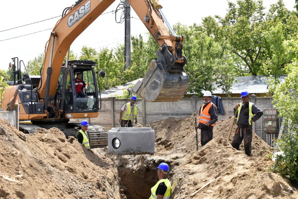
[[(248, 91), (249, 93), (267, 93), (268, 83), (270, 76), (259, 75), (259, 76), (242, 76), (235, 77), (231, 88), (231, 93), (241, 93), (242, 91)], [(283, 83), (286, 75), (280, 77), (280, 82)], [(217, 85), (214, 84), (216, 88)], [(212, 94), (225, 94), (221, 88), (217, 88), (212, 91)]]

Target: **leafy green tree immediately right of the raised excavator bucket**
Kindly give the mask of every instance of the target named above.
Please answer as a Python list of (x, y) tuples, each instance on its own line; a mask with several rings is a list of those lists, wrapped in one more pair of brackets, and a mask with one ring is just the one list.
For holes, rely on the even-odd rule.
[[(214, 90), (213, 83), (229, 94), (229, 89), (234, 80), (233, 70), (235, 65), (230, 59), (225, 41), (217, 38), (218, 31), (215, 21), (208, 17), (207, 27), (193, 26), (187, 27), (182, 24), (176, 24), (174, 28), (177, 34), (184, 35), (183, 52), (187, 57), (185, 70), (187, 71), (190, 84), (188, 91), (190, 93), (202, 94), (202, 90)], [(207, 24), (205, 23), (205, 25)], [(210, 29), (212, 27), (216, 30)]]

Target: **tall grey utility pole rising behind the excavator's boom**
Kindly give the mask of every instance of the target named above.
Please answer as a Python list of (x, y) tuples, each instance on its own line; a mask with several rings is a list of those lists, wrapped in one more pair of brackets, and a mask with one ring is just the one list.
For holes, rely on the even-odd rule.
[(124, 61), (125, 61), (125, 67), (124, 70), (128, 68), (128, 66), (131, 65), (131, 41), (130, 41), (130, 4), (125, 0), (125, 42), (124, 42)]

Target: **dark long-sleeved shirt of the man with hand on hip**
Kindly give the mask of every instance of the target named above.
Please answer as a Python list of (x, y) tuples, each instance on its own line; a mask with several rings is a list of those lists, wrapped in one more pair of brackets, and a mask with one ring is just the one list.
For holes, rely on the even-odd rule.
[[(234, 114), (236, 113), (237, 109), (234, 108)], [(255, 116), (252, 117), (252, 121), (255, 122), (258, 119), (260, 119), (260, 117), (263, 115), (263, 112), (261, 111), (260, 108), (258, 108), (256, 105), (252, 105), (252, 114), (255, 114)], [(239, 120), (238, 120), (238, 127), (248, 127), (249, 123), (248, 123), (248, 119), (249, 119), (249, 103), (247, 103), (246, 105), (243, 105), (242, 102), (242, 107), (240, 110), (240, 114), (239, 114)]]

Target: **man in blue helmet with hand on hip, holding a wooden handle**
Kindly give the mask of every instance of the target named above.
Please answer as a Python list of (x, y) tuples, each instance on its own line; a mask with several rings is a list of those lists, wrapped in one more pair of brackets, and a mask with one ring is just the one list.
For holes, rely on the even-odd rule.
[(263, 111), (254, 103), (249, 102), (248, 91), (241, 92), (242, 103), (237, 103), (234, 107), (234, 114), (237, 111), (237, 128), (232, 141), (232, 147), (239, 150), (243, 140), (245, 154), (251, 156), (252, 153), (252, 124), (260, 119)]

